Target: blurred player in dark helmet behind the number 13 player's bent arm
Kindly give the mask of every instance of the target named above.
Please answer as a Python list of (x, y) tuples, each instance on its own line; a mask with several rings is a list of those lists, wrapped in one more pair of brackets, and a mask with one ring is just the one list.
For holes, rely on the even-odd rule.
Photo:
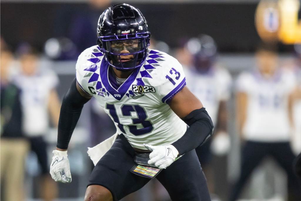
[[(230, 148), (227, 101), (231, 96), (232, 78), (225, 68), (217, 64), (217, 46), (211, 36), (201, 34), (191, 38), (185, 48), (192, 55), (191, 66), (185, 69), (187, 86), (198, 99), (202, 100), (215, 125), (213, 139), (198, 147), (196, 152), (206, 175), (209, 191), (217, 193), (214, 187), (214, 175), (222, 171), (226, 180), (227, 163), (224, 160), (219, 164), (222, 168), (215, 172), (216, 167), (211, 161), (211, 150), (216, 155), (225, 155)], [(224, 185), (227, 183), (225, 182)], [(217, 199), (215, 197), (215, 195), (211, 196), (213, 200)]]

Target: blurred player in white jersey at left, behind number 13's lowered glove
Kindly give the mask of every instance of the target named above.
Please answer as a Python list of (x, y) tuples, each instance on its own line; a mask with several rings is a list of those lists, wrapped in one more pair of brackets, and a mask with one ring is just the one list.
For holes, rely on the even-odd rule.
[(55, 127), (58, 124), (61, 106), (55, 89), (58, 78), (53, 71), (40, 66), (38, 52), (33, 47), (23, 44), (17, 53), (21, 69), (20, 73), (14, 75), (13, 81), (21, 90), (22, 129), (39, 161), (40, 196), (46, 201), (53, 200), (57, 196), (57, 187), (49, 174), (47, 143), (44, 138), (49, 129), (48, 115)]

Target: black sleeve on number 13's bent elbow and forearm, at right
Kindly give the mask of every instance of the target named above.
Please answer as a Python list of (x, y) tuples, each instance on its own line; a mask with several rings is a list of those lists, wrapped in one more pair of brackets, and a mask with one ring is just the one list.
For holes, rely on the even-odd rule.
[(202, 145), (213, 134), (213, 123), (205, 108), (192, 111), (182, 118), (189, 126), (184, 135), (172, 143), (178, 150), (179, 155)]

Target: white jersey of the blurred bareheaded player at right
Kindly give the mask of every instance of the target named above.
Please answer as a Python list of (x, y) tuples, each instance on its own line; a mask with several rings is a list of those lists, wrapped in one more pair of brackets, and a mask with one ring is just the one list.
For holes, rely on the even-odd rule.
[(288, 96), (296, 86), (292, 73), (279, 70), (271, 79), (255, 71), (237, 79), (237, 90), (247, 93), (245, 139), (263, 142), (290, 140)]

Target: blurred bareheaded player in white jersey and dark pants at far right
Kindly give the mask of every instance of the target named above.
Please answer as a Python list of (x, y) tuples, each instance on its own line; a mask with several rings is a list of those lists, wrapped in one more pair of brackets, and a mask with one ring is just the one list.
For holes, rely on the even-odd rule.
[(272, 156), (287, 173), (289, 200), (300, 200), (300, 186), (293, 173), (295, 155), (290, 146), (293, 127), (289, 107), (296, 79), (278, 68), (275, 45), (261, 44), (256, 51), (256, 69), (243, 72), (236, 83), (236, 118), (242, 145), (240, 177), (231, 190), (237, 200), (253, 170)]

